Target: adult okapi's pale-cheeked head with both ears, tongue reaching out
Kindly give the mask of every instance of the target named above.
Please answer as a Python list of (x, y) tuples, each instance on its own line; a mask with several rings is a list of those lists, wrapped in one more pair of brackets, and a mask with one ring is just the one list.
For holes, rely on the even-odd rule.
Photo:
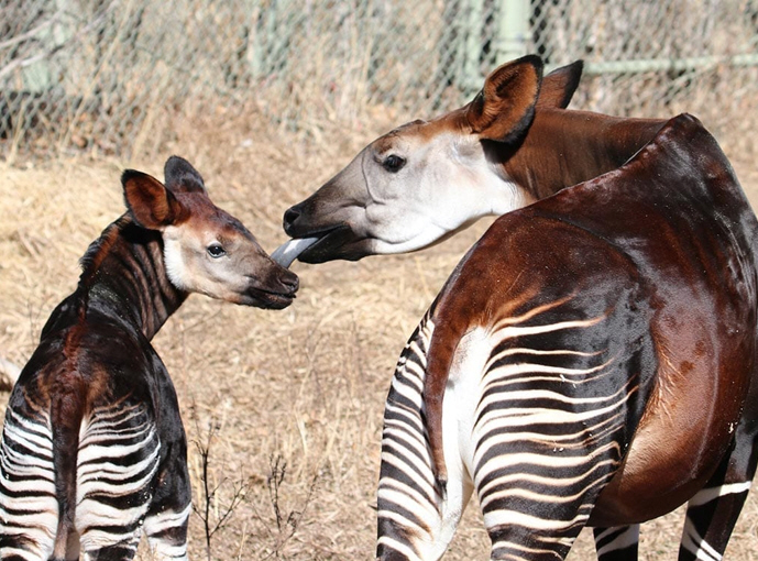
[(316, 240), (299, 260), (415, 251), (530, 202), (502, 163), (519, 150), (536, 109), (569, 103), (581, 73), (579, 62), (542, 79), (540, 58), (525, 56), (493, 72), (466, 106), (380, 136), (285, 212), (288, 235)]

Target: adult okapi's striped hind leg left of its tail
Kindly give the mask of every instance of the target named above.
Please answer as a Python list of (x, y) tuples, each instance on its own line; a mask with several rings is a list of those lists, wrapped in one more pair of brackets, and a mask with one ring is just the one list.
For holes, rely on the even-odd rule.
[(398, 362), (385, 407), (376, 547), (377, 559), (384, 561), (439, 559), (472, 492), (460, 452), (455, 451), (455, 439), (446, 440), (449, 479), (444, 496), (431, 469), (421, 407), (430, 329), (425, 318), (411, 337)]

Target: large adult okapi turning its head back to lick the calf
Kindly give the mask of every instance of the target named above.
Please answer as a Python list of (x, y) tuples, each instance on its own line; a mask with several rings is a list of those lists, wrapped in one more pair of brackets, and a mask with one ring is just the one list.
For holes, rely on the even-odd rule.
[(493, 559), (563, 559), (589, 525), (634, 560), (685, 502), (680, 560), (721, 559), (757, 462), (758, 222), (696, 119), (565, 110), (581, 64), (541, 69), (499, 67), (284, 216), (319, 263), (503, 215), (398, 362), (377, 557), (440, 558), (475, 490)]

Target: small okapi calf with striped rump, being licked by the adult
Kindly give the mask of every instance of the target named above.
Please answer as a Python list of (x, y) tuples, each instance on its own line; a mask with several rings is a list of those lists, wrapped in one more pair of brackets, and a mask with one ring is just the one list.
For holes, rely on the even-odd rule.
[(122, 176), (129, 211), (81, 260), (11, 394), (0, 447), (0, 559), (187, 559), (190, 488), (176, 393), (150, 340), (189, 293), (288, 306), (295, 274), (180, 157), (166, 185)]

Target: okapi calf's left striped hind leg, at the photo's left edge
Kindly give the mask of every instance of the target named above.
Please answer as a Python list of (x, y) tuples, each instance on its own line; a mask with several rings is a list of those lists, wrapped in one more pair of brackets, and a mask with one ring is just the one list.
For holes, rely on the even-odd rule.
[(0, 444), (0, 559), (48, 559), (57, 525), (50, 422), (9, 406)]

